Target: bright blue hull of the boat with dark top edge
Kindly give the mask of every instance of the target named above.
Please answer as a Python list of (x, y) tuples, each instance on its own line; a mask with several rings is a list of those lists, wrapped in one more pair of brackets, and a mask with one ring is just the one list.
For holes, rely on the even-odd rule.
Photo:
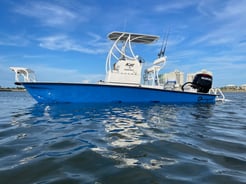
[(215, 103), (216, 95), (169, 91), (144, 87), (22, 82), (29, 94), (39, 103)]

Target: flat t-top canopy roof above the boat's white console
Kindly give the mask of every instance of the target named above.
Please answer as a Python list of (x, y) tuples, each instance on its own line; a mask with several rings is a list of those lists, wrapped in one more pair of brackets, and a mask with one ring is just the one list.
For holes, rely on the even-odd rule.
[(136, 34), (136, 33), (127, 33), (127, 32), (111, 32), (108, 34), (110, 40), (121, 40), (127, 41), (130, 39), (133, 43), (152, 43), (159, 39), (159, 36), (155, 35), (145, 35), (145, 34)]

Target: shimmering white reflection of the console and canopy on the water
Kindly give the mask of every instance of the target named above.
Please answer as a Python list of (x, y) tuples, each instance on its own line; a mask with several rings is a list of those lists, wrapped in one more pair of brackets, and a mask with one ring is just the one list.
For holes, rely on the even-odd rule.
[[(172, 158), (149, 155), (149, 149), (156, 149), (155, 141), (166, 141), (172, 137), (168, 118), (175, 118), (175, 108), (162, 105), (125, 106), (113, 108), (104, 121), (107, 132), (107, 150), (104, 155), (117, 160), (117, 167), (140, 166), (158, 169), (173, 164)], [(155, 152), (155, 151), (154, 151)]]

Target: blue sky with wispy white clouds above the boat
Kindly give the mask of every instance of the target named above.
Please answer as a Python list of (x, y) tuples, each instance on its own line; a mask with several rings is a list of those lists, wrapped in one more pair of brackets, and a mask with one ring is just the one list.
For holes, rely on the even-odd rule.
[(162, 73), (207, 69), (216, 87), (245, 84), (245, 8), (245, 0), (1, 0), (0, 86), (14, 86), (10, 66), (31, 68), (40, 81), (96, 82), (109, 32), (159, 35), (135, 46), (148, 64), (169, 28)]

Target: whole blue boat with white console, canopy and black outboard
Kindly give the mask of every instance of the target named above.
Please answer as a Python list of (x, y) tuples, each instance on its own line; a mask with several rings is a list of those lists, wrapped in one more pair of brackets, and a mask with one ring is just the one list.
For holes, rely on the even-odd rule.
[[(96, 83), (37, 81), (33, 70), (10, 67), (15, 72), (15, 84), (22, 85), (38, 103), (215, 103), (223, 96), (212, 89), (212, 74), (202, 71), (184, 84), (177, 78), (160, 80), (160, 70), (166, 64), (165, 47), (148, 67), (145, 60), (133, 52), (132, 45), (149, 45), (159, 36), (129, 32), (111, 32), (112, 47), (106, 58), (106, 76)], [(221, 98), (220, 98), (221, 99)]]

